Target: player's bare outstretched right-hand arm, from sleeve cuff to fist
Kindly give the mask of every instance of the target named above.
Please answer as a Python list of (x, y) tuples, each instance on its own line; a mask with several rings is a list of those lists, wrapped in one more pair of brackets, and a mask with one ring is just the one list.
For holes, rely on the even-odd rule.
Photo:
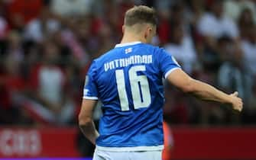
[(223, 104), (232, 104), (233, 109), (238, 111), (242, 109), (243, 102), (241, 98), (238, 98), (237, 91), (233, 94), (225, 94), (211, 85), (191, 78), (183, 72), (182, 69), (175, 69), (167, 76), (167, 79), (177, 88), (180, 88), (186, 93), (191, 93), (197, 98), (208, 101), (218, 101)]

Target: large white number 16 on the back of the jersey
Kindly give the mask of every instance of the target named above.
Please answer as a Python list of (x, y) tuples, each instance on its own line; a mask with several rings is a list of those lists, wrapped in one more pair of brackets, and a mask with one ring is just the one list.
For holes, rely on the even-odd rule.
[[(131, 69), (129, 69), (128, 71), (134, 109), (148, 107), (151, 104), (151, 93), (149, 90), (147, 76), (137, 74), (137, 72), (145, 70), (145, 66), (132, 66)], [(121, 110), (129, 110), (128, 96), (125, 89), (124, 70), (115, 70), (115, 78), (118, 87), (118, 96), (121, 104)]]

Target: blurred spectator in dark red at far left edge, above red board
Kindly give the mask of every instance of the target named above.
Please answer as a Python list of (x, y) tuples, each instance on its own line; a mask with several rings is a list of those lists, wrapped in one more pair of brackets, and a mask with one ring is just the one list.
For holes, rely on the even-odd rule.
[[(12, 59), (11, 55), (3, 57), (0, 69), (0, 123), (2, 124), (25, 124), (21, 104), (17, 101), (23, 94), (25, 82), (21, 76), (21, 65)], [(15, 117), (15, 118), (13, 118)]]

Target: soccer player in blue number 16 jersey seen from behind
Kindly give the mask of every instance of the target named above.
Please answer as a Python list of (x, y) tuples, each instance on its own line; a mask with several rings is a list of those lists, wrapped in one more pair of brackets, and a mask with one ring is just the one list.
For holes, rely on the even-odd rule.
[[(151, 46), (156, 34), (153, 8), (134, 6), (125, 13), (123, 38), (92, 62), (86, 76), (79, 127), (96, 144), (94, 160), (160, 160), (164, 147), (162, 78), (197, 98), (231, 104), (241, 111), (238, 93), (225, 94), (190, 78), (165, 50)], [(99, 133), (92, 110), (102, 101)]]

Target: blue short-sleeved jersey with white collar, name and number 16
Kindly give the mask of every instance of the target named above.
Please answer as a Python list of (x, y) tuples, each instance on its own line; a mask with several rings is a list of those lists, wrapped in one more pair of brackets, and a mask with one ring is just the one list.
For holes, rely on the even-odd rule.
[(96, 145), (125, 151), (162, 149), (162, 79), (179, 68), (170, 53), (140, 42), (118, 44), (95, 59), (83, 98), (102, 101)]

